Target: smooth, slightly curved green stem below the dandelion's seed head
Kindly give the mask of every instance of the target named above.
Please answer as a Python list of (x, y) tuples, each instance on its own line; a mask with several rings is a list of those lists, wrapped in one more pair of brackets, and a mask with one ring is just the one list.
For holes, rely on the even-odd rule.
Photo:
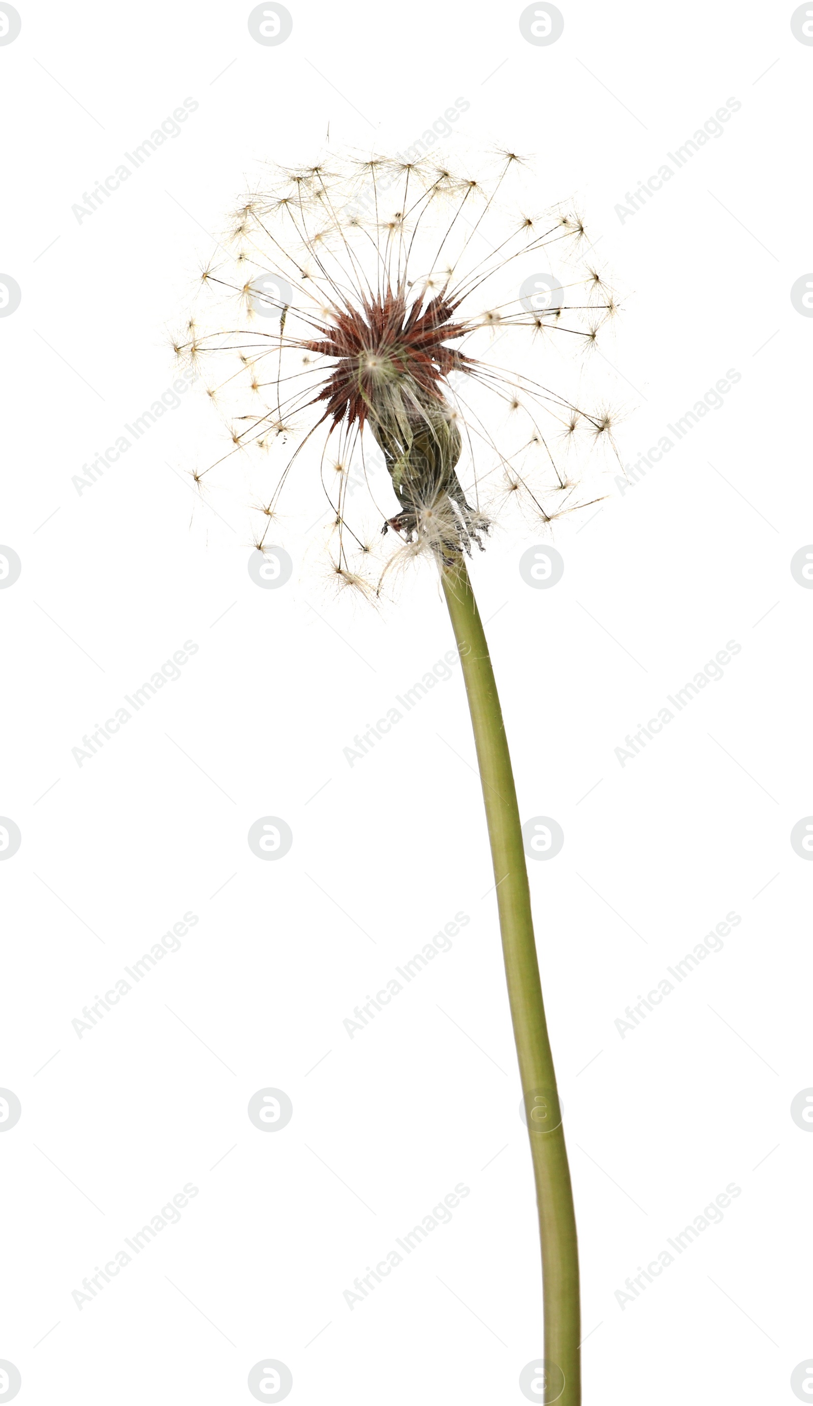
[[(513, 1039), (527, 1112), (544, 1285), (546, 1391), (540, 1402), (580, 1406), (578, 1247), (570, 1168), (533, 939), (516, 787), (482, 621), (460, 557), (442, 571), (460, 651), (494, 860)], [(564, 1378), (564, 1384), (563, 1384)]]

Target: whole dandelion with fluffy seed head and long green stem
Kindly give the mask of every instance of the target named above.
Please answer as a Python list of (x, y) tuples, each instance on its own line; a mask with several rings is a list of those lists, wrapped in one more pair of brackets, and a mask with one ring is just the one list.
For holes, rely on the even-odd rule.
[(174, 346), (222, 425), (198, 488), (259, 456), (260, 551), (286, 495), (312, 517), (316, 488), (343, 589), (376, 600), (411, 561), (437, 574), (494, 859), (539, 1202), (544, 1357), (561, 1378), (557, 1399), (577, 1406), (570, 1171), (511, 758), (467, 568), (511, 515), (547, 527), (585, 506), (572, 472), (582, 446), (613, 453), (613, 418), (584, 404), (581, 382), (616, 304), (581, 217), (537, 209), (536, 191), (515, 152), (494, 153), (484, 179), (437, 153), (276, 167), (235, 211)]

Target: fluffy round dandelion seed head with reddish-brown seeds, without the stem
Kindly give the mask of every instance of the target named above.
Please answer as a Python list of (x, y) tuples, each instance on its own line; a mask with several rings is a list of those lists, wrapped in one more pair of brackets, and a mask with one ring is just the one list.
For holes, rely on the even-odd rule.
[[(262, 451), (256, 546), (283, 494), (309, 523), (321, 501), (342, 589), (376, 593), (416, 557), (484, 550), (506, 501), (533, 522), (574, 510), (557, 456), (582, 427), (612, 443), (605, 401), (589, 388), (582, 401), (580, 353), (617, 312), (581, 263), (584, 221), (536, 212), (518, 152), (485, 167), (412, 150), (273, 167), (238, 201), (232, 243), (173, 340), (179, 360), (205, 366), (224, 422), (212, 471)], [(563, 298), (537, 308), (522, 288), (544, 273)]]

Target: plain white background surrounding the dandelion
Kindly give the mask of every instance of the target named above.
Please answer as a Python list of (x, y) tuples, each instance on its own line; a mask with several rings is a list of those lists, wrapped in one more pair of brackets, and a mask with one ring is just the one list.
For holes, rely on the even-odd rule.
[[(300, 569), (249, 579), (245, 505), (198, 505), (200, 394), (79, 494), (72, 478), (172, 382), (183, 318), (257, 160), (394, 150), (459, 96), (482, 146), (534, 152), (625, 290), (625, 463), (736, 368), (740, 382), (634, 486), (474, 564), (523, 818), (565, 1105), (584, 1274), (585, 1402), (781, 1403), (813, 1357), (809, 886), (813, 811), (809, 346), (813, 48), (783, 4), (291, 4), (279, 48), (249, 6), (20, 6), (0, 46), (0, 1358), (20, 1400), (250, 1402), (277, 1358), (291, 1400), (518, 1402), (542, 1355), (530, 1159), (459, 669), (353, 768), (343, 748), (452, 636), (426, 571), (381, 613)], [(198, 110), (91, 218), (72, 205), (179, 103)], [(633, 218), (616, 204), (729, 98), (741, 110)], [(601, 243), (598, 240), (601, 239)], [(319, 510), (316, 501), (315, 515)], [(218, 516), (219, 513), (219, 516)], [(588, 520), (589, 519), (589, 520)], [(291, 546), (291, 544), (288, 544)], [(293, 554), (297, 557), (295, 543)], [(499, 612), (497, 614), (497, 612)], [(104, 749), (72, 748), (186, 640), (198, 652)], [(639, 756), (615, 748), (729, 640), (720, 682)], [(280, 815), (264, 863), (249, 825)], [(194, 911), (98, 1025), (72, 1021)], [(367, 1029), (343, 1021), (454, 912), (453, 949)], [(615, 1021), (736, 911), (722, 952), (622, 1039)], [(259, 1088), (294, 1105), (273, 1136)], [(79, 1309), (72, 1291), (186, 1182), (179, 1225)], [(440, 1226), (361, 1305), (343, 1291), (457, 1182)], [(632, 1303), (616, 1291), (729, 1182), (720, 1225)]]

